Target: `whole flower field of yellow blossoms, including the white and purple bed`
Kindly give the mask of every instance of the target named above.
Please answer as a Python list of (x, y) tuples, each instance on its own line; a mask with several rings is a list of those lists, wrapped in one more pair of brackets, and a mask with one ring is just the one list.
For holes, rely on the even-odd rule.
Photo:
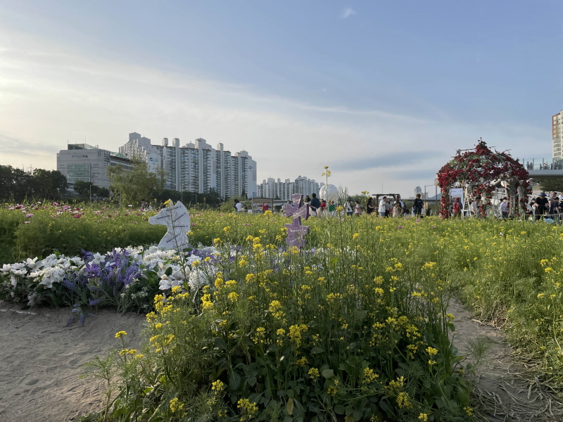
[[(165, 229), (147, 213), (52, 207), (0, 210), (21, 260), (1, 267), (0, 299), (70, 305), (79, 319), (106, 305), (148, 312), (143, 350), (120, 332), (90, 365), (121, 383), (90, 420), (470, 421), (451, 295), (562, 384), (559, 226), (327, 217), (305, 222), (300, 251), (286, 248), (284, 217), (194, 211), (190, 239), (206, 246), (177, 253), (150, 247)], [(58, 248), (23, 242), (49, 224)]]

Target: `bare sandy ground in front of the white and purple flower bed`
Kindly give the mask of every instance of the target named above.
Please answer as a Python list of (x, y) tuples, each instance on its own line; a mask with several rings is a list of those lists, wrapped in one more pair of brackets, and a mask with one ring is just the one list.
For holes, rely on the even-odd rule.
[(81, 365), (117, 347), (121, 330), (137, 347), (144, 317), (100, 311), (65, 328), (70, 309), (18, 310), (0, 301), (0, 421), (73, 421), (99, 411), (100, 383), (79, 379)]

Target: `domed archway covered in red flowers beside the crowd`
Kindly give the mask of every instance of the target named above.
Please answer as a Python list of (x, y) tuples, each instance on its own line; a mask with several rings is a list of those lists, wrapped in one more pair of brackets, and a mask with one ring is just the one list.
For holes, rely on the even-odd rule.
[(468, 198), (481, 198), (480, 213), (486, 214), (486, 206), (491, 205), (496, 186), (503, 186), (510, 198), (511, 208), (518, 203), (520, 210), (526, 211), (529, 188), (528, 172), (520, 162), (508, 153), (491, 151), (483, 141), (474, 150), (457, 155), (443, 166), (437, 174), (441, 188), (441, 217), (450, 215), (450, 188), (464, 188)]

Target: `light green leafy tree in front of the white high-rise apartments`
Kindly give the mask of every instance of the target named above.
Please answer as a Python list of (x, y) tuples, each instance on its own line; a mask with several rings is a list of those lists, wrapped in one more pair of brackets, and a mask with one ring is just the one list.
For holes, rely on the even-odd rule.
[(150, 198), (151, 192), (161, 190), (163, 181), (162, 172), (149, 172), (146, 162), (139, 160), (134, 160), (132, 170), (108, 167), (108, 179), (115, 198), (129, 204)]

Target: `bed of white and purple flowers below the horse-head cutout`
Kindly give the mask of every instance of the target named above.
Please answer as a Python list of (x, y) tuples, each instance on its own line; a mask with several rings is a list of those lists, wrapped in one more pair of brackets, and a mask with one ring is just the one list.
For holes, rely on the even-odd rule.
[(105, 255), (83, 251), (80, 257), (56, 253), (44, 260), (28, 258), (0, 268), (0, 300), (27, 302), (27, 307), (70, 306), (81, 324), (88, 307), (150, 312), (156, 293), (185, 281), (189, 263), (214, 252), (214, 248), (187, 252), (185, 269), (177, 265), (176, 252), (154, 246), (115, 248)]

